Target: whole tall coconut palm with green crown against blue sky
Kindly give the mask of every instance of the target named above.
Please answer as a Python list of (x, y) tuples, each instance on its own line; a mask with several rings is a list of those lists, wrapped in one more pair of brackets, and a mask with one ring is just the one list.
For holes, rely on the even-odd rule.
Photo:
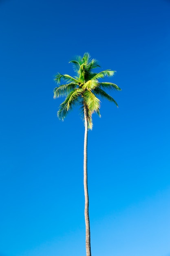
[(93, 69), (100, 67), (98, 61), (91, 59), (88, 53), (85, 53), (83, 58), (77, 56), (75, 60), (70, 61), (73, 63), (76, 76), (70, 76), (68, 74), (58, 73), (55, 76), (55, 81), (60, 84), (60, 80), (64, 81), (64, 84), (58, 85), (54, 89), (54, 99), (58, 97), (66, 97), (63, 103), (60, 104), (57, 112), (57, 117), (62, 121), (66, 117), (69, 110), (72, 110), (73, 106), (80, 105), (80, 110), (83, 115), (85, 133), (84, 133), (84, 195), (85, 195), (85, 224), (86, 224), (86, 256), (91, 256), (91, 239), (90, 239), (90, 222), (88, 214), (88, 186), (87, 186), (87, 136), (88, 129), (92, 130), (92, 114), (96, 112), (100, 117), (100, 100), (97, 98), (102, 97), (112, 101), (118, 107), (116, 101), (104, 91), (109, 90), (121, 90), (114, 83), (101, 83), (99, 79), (105, 76), (113, 76), (115, 71), (104, 70), (99, 73), (94, 73)]

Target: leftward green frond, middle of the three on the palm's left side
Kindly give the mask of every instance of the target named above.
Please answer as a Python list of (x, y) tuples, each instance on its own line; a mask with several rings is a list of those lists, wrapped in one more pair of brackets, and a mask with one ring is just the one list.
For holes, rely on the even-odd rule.
[(77, 85), (75, 83), (68, 83), (65, 85), (60, 85), (59, 87), (55, 87), (55, 89), (53, 90), (54, 99), (67, 96), (76, 87)]

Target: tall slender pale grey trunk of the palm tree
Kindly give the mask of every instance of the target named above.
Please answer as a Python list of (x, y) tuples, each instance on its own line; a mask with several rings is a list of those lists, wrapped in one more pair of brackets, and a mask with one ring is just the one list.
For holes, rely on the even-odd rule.
[(85, 196), (85, 224), (86, 224), (86, 256), (91, 256), (91, 234), (90, 234), (90, 221), (88, 214), (88, 186), (87, 186), (87, 135), (88, 135), (88, 121), (87, 121), (87, 107), (84, 103), (84, 196)]

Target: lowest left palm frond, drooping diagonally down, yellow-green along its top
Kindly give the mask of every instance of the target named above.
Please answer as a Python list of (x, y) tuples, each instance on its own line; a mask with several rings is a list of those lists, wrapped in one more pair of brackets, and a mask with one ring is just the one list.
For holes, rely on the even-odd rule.
[(60, 104), (59, 110), (57, 112), (57, 117), (62, 121), (68, 114), (69, 110), (72, 110), (72, 107), (75, 106), (79, 101), (79, 97), (81, 96), (83, 90), (81, 88), (74, 89), (68, 96), (65, 101)]

